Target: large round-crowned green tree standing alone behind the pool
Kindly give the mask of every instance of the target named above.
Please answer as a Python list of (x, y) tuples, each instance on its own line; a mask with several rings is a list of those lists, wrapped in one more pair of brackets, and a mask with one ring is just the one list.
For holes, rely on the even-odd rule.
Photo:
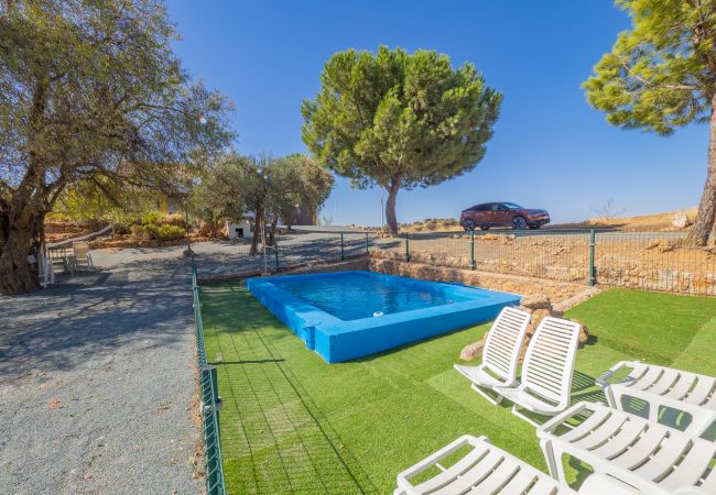
[(352, 186), (388, 191), (386, 218), (395, 234), (398, 191), (473, 169), (501, 100), (473, 64), (453, 68), (447, 55), (349, 50), (330, 57), (318, 95), (304, 101), (303, 141)]

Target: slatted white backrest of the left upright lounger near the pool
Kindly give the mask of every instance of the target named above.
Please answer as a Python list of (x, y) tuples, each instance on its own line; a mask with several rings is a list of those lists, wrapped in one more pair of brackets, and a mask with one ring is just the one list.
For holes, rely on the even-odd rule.
[(482, 364), (498, 377), (513, 382), (530, 314), (506, 307), (492, 323), (485, 341)]

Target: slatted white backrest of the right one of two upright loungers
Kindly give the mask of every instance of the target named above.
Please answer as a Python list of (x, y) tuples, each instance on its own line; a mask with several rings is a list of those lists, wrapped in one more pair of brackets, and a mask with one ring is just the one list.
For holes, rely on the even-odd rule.
[(522, 384), (566, 407), (581, 330), (582, 326), (575, 321), (544, 318), (530, 339), (522, 365)]

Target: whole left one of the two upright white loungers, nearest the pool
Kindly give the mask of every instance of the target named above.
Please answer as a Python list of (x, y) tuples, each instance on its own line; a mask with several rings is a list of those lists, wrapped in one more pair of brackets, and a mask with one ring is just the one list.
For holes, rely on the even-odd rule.
[(455, 370), (473, 382), (473, 388), (492, 404), (497, 404), (502, 397), (498, 396), (496, 400), (482, 388), (517, 385), (520, 348), (529, 323), (529, 312), (506, 307), (500, 311), (487, 334), (482, 350), (482, 363), (479, 366), (455, 364)]

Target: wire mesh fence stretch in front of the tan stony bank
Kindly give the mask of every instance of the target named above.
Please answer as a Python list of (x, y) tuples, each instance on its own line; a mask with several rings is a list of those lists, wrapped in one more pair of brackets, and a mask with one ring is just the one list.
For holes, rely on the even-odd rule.
[(558, 282), (716, 295), (716, 249), (683, 231), (597, 229), (416, 232), (371, 241), (371, 253), (409, 262)]

